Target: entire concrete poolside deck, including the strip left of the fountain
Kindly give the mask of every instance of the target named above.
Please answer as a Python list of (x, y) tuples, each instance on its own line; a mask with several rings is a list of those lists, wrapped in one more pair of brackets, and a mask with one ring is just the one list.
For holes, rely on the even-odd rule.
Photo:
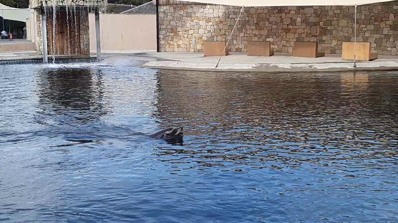
[[(94, 56), (94, 55), (92, 55)], [(61, 56), (62, 57), (62, 56)], [(246, 56), (231, 53), (224, 56), (218, 67), (219, 57), (204, 57), (201, 53), (156, 53), (154, 51), (104, 51), (104, 64), (141, 66), (156, 69), (202, 71), (250, 71), (250, 72), (333, 72), (398, 70), (398, 56), (379, 56), (378, 59), (358, 62), (341, 59), (341, 55), (318, 58), (293, 57), (292, 54), (276, 53), (270, 57)], [(1, 60), (40, 60), (36, 52), (1, 53)]]

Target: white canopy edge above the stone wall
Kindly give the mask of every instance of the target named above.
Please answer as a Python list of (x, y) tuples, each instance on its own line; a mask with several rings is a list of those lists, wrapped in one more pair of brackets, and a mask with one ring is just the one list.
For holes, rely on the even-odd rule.
[(322, 5), (362, 5), (392, 0), (178, 0), (207, 4), (233, 6), (322, 6)]

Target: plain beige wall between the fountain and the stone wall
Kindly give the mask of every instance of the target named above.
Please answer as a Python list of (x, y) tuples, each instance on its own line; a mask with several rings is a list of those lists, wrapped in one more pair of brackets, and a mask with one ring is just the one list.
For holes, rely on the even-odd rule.
[[(90, 49), (96, 52), (96, 26), (90, 14)], [(101, 50), (156, 50), (156, 15), (100, 14)]]

